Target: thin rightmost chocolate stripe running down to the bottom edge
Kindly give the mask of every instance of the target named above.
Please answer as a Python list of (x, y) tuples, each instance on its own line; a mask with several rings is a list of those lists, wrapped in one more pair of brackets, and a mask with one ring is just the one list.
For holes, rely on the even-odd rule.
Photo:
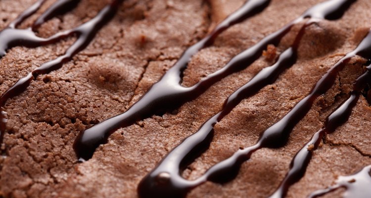
[[(316, 132), (312, 139), (296, 153), (290, 163), (290, 169), (282, 180), (278, 189), (270, 198), (283, 198), (286, 196), (288, 188), (298, 182), (305, 174), (305, 171), (312, 158), (313, 151), (318, 148), (322, 138), (326, 134), (333, 133), (336, 128), (344, 124), (351, 115), (353, 107), (357, 104), (362, 90), (366, 85), (371, 85), (371, 65), (354, 83), (353, 92), (350, 97), (340, 104), (327, 118), (324, 127)], [(371, 180), (371, 178), (370, 178)], [(371, 183), (370, 183), (371, 184)], [(362, 193), (362, 192), (360, 192)], [(366, 195), (366, 194), (365, 194)], [(371, 195), (371, 194), (369, 194)], [(357, 197), (358, 198), (358, 197)]]

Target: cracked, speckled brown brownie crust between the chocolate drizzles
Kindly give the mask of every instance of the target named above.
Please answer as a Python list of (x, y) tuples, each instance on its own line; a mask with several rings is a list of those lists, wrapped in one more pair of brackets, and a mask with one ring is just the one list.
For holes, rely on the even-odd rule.
[[(1, 0), (0, 28), (35, 0)], [(190, 86), (216, 71), (239, 51), (255, 44), (324, 0), (272, 0), (251, 19), (223, 33), (215, 45), (198, 52), (184, 73)], [(27, 27), (53, 1), (49, 0)], [(82, 0), (71, 12), (44, 24), (46, 37), (92, 18), (109, 0)], [(202, 38), (243, 0), (126, 0), (116, 17), (91, 45), (61, 69), (41, 75), (5, 105), (7, 134), (0, 159), (3, 197), (135, 198), (140, 179), (182, 139), (192, 134), (224, 100), (260, 69), (272, 64), (261, 57), (247, 69), (216, 83), (173, 114), (152, 116), (115, 132), (92, 159), (77, 163), (72, 144), (87, 127), (125, 111), (174, 64), (187, 46)], [(354, 49), (371, 27), (371, 1), (358, 0), (337, 21), (321, 21), (307, 28), (299, 59), (273, 85), (244, 99), (215, 126), (210, 149), (183, 173), (195, 179), (240, 147), (254, 144), (260, 132), (278, 121), (306, 96), (313, 84), (346, 52)], [(286, 36), (280, 53), (295, 36)], [(62, 54), (74, 39), (36, 49), (16, 47), (0, 60), (0, 94), (43, 62)], [(237, 178), (220, 185), (206, 183), (189, 197), (227, 198), (269, 196), (286, 174), (291, 158), (325, 117), (347, 97), (362, 72), (356, 57), (339, 73), (336, 84), (320, 97), (292, 131), (284, 148), (261, 149), (242, 165)], [(301, 198), (331, 185), (337, 176), (355, 173), (371, 164), (371, 107), (361, 97), (349, 121), (325, 137), (314, 152), (304, 178), (293, 185), (289, 198)], [(341, 192), (327, 197), (338, 197)]]

